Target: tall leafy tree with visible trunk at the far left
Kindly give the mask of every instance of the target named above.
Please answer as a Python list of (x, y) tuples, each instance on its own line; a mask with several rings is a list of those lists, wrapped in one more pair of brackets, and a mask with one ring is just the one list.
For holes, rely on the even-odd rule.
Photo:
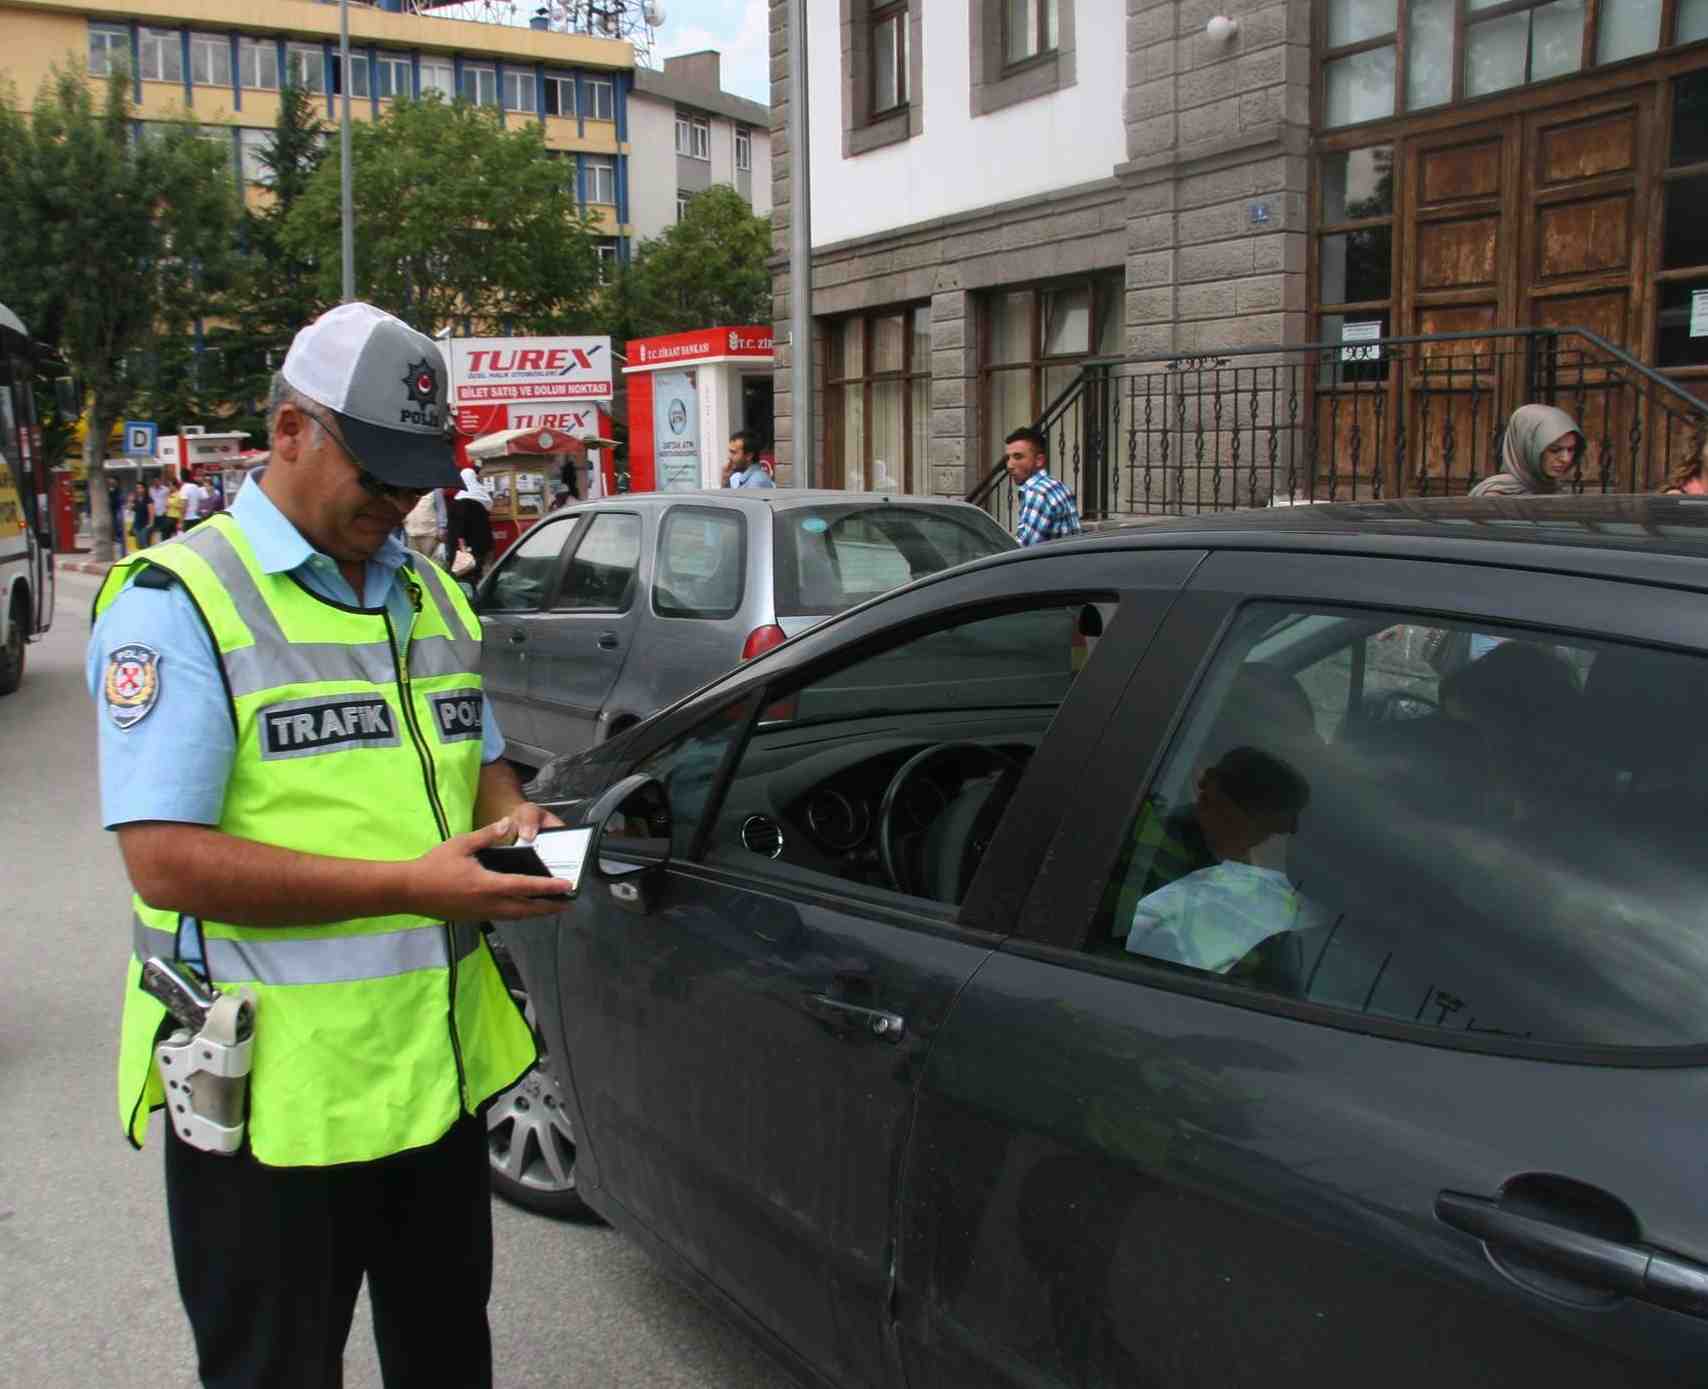
[[(0, 92), (0, 301), (58, 347), (89, 398), (96, 559), (113, 557), (101, 463), (155, 335), (219, 304), (237, 226), (231, 147), (191, 121), (132, 135), (130, 80), (55, 68), (26, 113)], [(27, 248), (20, 253), (19, 248)]]

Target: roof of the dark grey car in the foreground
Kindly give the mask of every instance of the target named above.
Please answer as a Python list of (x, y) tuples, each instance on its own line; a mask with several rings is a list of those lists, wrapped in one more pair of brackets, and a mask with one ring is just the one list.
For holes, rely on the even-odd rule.
[(1708, 589), (1708, 497), (1419, 497), (1139, 518), (975, 566), (1088, 548), (1372, 554)]

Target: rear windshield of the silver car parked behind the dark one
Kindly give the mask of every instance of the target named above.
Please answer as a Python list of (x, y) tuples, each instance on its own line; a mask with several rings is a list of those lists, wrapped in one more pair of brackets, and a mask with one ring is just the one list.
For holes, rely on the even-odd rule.
[(982, 511), (905, 502), (781, 509), (772, 535), (779, 617), (825, 617), (1015, 547)]

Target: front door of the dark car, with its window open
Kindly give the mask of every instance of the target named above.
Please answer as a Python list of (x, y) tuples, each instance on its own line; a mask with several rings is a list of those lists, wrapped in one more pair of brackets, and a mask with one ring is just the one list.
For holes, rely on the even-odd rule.
[(958, 576), (738, 673), (639, 762), (676, 835), (651, 912), (594, 890), (560, 919), (591, 1199), (832, 1384), (898, 1382), (917, 1078), (1194, 559), (1126, 603), (1107, 555)]

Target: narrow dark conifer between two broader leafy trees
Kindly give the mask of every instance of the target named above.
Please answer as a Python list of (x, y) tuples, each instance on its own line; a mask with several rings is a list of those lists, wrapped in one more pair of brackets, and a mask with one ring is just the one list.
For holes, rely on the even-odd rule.
[(265, 193), (243, 214), (243, 273), (231, 325), (217, 345), (237, 429), (265, 419), (270, 378), (297, 328), (338, 301), (336, 290), (330, 297), (321, 294), (316, 256), (285, 243), (285, 224), (325, 159), (325, 133), (314, 99), (301, 87), (284, 87), (278, 118), (258, 154)]

